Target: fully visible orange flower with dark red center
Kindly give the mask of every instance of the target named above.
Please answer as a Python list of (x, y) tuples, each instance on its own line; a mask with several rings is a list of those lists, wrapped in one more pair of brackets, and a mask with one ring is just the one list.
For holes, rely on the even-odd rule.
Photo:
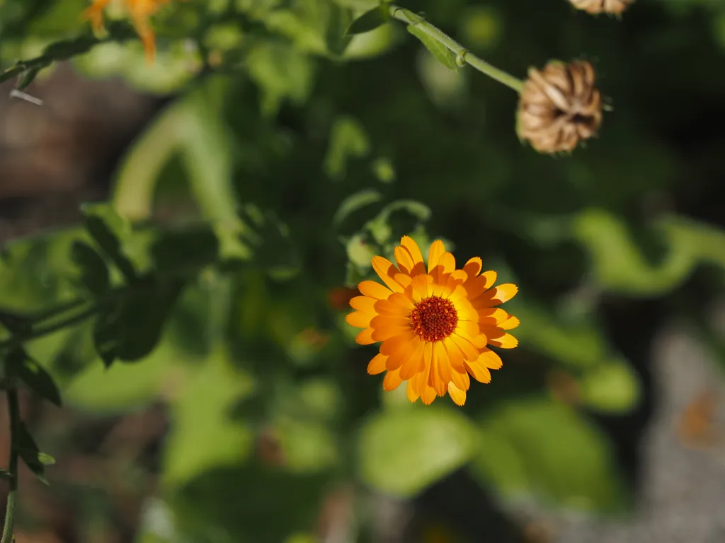
[(368, 364), (369, 374), (387, 371), (385, 390), (407, 381), (407, 397), (430, 404), (436, 396), (450, 395), (465, 403), (471, 379), (487, 383), (501, 358), (488, 348), (518, 345), (507, 330), (518, 319), (496, 306), (510, 300), (518, 287), (510, 283), (494, 287), (495, 271), (481, 273), (481, 258), (471, 258), (456, 269), (455, 258), (436, 240), (423, 253), (412, 238), (404, 236), (394, 250), (397, 266), (376, 256), (373, 269), (385, 283), (363, 281), (363, 294), (350, 300), (357, 311), (347, 322), (364, 328), (357, 342), (382, 342), (380, 353)]

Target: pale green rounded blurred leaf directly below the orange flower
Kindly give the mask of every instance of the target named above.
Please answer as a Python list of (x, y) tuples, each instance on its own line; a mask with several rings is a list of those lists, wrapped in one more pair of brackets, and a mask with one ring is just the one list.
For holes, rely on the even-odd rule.
[(476, 451), (476, 434), (460, 411), (413, 406), (378, 414), (357, 447), (365, 483), (410, 497), (463, 466)]

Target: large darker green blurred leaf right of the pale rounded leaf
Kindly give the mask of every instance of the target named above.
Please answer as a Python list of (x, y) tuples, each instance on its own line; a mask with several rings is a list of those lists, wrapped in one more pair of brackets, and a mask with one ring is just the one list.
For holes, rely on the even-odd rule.
[(608, 439), (567, 405), (508, 400), (481, 422), (481, 442), (473, 471), (502, 494), (582, 510), (614, 511), (626, 502)]

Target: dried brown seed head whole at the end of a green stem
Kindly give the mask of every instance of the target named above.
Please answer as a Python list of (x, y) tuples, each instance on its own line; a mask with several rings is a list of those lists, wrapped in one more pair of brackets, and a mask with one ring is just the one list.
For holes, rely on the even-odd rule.
[(518, 101), (518, 136), (540, 153), (573, 151), (602, 124), (602, 96), (592, 64), (549, 62), (529, 68)]

